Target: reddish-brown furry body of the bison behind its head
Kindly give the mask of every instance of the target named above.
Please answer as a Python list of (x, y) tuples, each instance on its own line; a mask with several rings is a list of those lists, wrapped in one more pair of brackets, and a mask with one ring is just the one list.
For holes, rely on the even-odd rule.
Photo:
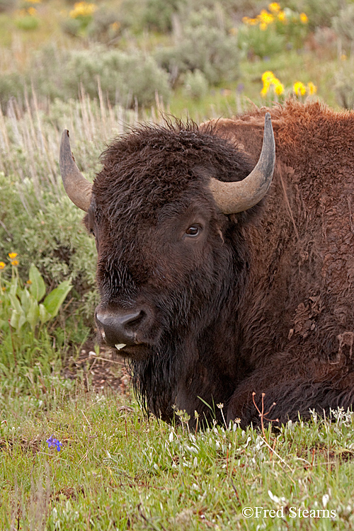
[[(219, 120), (219, 134), (259, 152), (264, 112)], [(254, 416), (253, 391), (290, 418), (306, 401), (321, 410), (354, 398), (354, 113), (292, 101), (270, 112), (275, 176), (258, 223), (244, 227), (253, 267), (242, 355), (254, 372), (230, 418)]]

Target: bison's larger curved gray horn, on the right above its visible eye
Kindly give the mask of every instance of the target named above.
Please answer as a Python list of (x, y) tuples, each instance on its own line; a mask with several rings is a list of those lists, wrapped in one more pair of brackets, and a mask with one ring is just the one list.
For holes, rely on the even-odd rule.
[(256, 205), (270, 186), (275, 166), (275, 141), (270, 114), (265, 114), (263, 147), (256, 167), (243, 181), (223, 183), (210, 179), (210, 190), (224, 214), (244, 212)]

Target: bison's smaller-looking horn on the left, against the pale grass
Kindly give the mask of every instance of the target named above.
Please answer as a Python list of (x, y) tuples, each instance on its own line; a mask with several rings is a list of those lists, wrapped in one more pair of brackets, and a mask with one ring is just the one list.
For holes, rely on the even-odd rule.
[(92, 185), (84, 178), (76, 166), (70, 149), (69, 131), (67, 129), (62, 134), (59, 166), (67, 195), (69, 195), (76, 207), (87, 212), (91, 203)]

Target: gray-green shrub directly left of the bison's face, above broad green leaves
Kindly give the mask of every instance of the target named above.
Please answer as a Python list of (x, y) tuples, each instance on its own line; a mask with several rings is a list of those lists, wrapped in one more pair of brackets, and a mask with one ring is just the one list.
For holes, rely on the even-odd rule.
[[(81, 222), (82, 212), (64, 194), (42, 190), (40, 207), (33, 181), (0, 173), (0, 256), (18, 253), (21, 275), (35, 263), (47, 285), (72, 280), (73, 295), (84, 303), (95, 290), (96, 247)], [(84, 312), (90, 313), (86, 307)]]

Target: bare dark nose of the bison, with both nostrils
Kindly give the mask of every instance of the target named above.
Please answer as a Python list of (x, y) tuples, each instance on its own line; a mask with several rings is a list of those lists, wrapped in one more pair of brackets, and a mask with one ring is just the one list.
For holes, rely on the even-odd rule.
[(144, 312), (118, 314), (96, 312), (96, 321), (105, 342), (110, 346), (132, 345), (136, 342), (136, 333), (144, 320)]

